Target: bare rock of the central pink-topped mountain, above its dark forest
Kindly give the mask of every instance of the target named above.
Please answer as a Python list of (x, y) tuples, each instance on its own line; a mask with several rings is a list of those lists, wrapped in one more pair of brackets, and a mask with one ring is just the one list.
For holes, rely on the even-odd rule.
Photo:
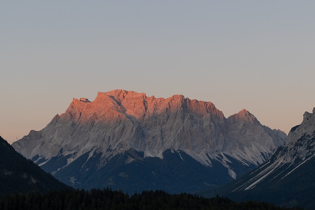
[[(128, 165), (146, 158), (165, 160), (165, 151), (170, 151), (182, 161), (181, 154), (185, 153), (208, 169), (220, 163), (224, 177), (235, 179), (245, 169), (262, 164), (285, 139), (284, 132), (261, 125), (247, 110), (226, 119), (211, 102), (183, 95), (164, 99), (112, 90), (98, 92), (93, 102), (73, 99), (64, 114), (56, 115), (44, 129), (31, 131), (12, 146), (53, 175), (79, 160), (82, 168), (94, 158), (97, 171), (126, 152), (141, 153), (141, 158), (127, 156), (124, 162)], [(57, 164), (56, 157), (63, 157), (62, 163)], [(236, 163), (244, 170), (240, 171)], [(87, 169), (90, 173), (91, 168)], [(124, 173), (122, 177), (127, 177)], [(76, 176), (69, 175), (63, 181), (74, 186), (83, 184), (77, 183)]]

